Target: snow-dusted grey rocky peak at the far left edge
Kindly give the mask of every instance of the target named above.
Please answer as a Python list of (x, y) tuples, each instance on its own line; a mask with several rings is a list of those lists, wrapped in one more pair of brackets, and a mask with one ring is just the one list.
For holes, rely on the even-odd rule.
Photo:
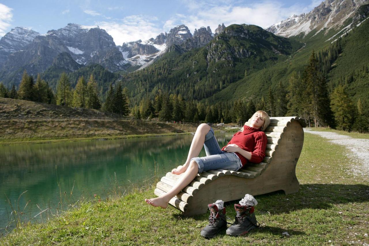
[(22, 50), (39, 35), (29, 28), (15, 27), (5, 34), (0, 40), (0, 67), (7, 60), (8, 55)]

